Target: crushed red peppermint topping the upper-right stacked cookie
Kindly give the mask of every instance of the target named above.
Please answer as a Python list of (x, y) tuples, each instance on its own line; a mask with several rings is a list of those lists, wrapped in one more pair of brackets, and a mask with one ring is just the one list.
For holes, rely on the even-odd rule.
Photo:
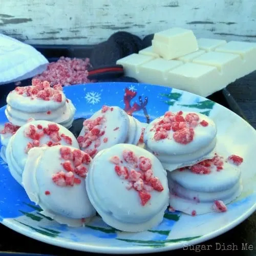
[(172, 139), (169, 134), (172, 133), (173, 139), (180, 144), (186, 145), (193, 141), (195, 136), (195, 127), (201, 125), (208, 126), (208, 122), (200, 120), (196, 113), (188, 113), (184, 116), (182, 111), (172, 113), (166, 112), (162, 118), (154, 123), (151, 131), (154, 131), (155, 140)]

